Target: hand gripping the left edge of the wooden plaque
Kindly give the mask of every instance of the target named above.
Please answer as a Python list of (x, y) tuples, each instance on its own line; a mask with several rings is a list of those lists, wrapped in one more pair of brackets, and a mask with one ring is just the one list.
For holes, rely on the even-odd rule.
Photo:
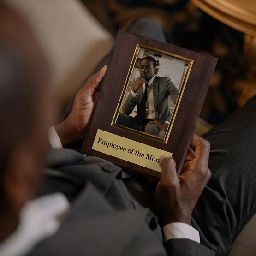
[(72, 111), (67, 119), (55, 126), (62, 145), (83, 139), (95, 102), (98, 99), (101, 81), (106, 70), (107, 65), (89, 77), (88, 81), (77, 92)]

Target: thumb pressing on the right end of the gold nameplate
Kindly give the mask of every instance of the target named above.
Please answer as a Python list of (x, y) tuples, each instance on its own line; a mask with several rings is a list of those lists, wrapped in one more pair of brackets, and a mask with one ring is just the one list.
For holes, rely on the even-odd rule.
[(162, 181), (167, 183), (176, 183), (179, 178), (176, 171), (176, 163), (169, 155), (162, 155), (159, 159), (162, 167)]

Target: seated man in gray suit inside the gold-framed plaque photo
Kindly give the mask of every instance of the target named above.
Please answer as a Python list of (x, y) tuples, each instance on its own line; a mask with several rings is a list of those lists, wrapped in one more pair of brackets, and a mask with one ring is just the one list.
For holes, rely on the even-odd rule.
[[(151, 56), (141, 60), (139, 71), (140, 77), (133, 81), (117, 124), (164, 137), (171, 119), (170, 98), (176, 104), (179, 90), (169, 77), (155, 76), (156, 60)], [(135, 106), (137, 116), (131, 117)]]

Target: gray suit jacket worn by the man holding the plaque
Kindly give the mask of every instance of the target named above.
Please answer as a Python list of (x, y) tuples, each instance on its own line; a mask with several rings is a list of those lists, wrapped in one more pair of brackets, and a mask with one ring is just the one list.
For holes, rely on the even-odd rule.
[[(189, 239), (165, 246), (158, 224), (147, 208), (131, 209), (131, 196), (119, 185), (121, 168), (69, 149), (54, 149), (42, 193), (60, 191), (71, 200), (59, 231), (27, 256), (214, 256)], [(131, 204), (132, 205), (132, 204)]]

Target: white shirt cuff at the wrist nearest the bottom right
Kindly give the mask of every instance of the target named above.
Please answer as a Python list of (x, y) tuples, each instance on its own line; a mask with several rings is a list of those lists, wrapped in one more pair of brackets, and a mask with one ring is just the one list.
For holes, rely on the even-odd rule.
[(163, 237), (164, 242), (167, 242), (169, 239), (175, 238), (186, 238), (191, 239), (197, 243), (200, 243), (199, 232), (192, 226), (182, 223), (182, 222), (173, 222), (163, 226)]

